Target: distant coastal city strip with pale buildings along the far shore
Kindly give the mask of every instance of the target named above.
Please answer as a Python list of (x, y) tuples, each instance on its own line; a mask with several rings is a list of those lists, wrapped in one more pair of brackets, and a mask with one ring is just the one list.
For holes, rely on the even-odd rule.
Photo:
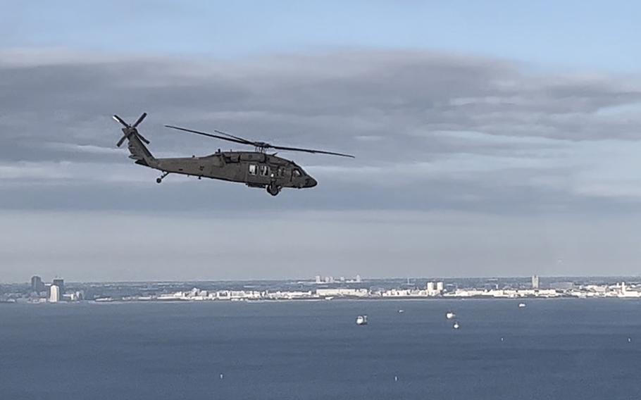
[[(56, 304), (78, 301), (252, 301), (306, 299), (452, 299), (495, 298), (556, 299), (575, 297), (641, 298), (641, 280), (623, 277), (528, 278), (413, 278), (332, 280), (253, 280), (199, 282), (75, 282), (65, 289), (63, 280), (46, 284), (43, 291), (32, 285), (0, 285), (0, 303)], [(525, 304), (519, 304), (525, 307)]]

